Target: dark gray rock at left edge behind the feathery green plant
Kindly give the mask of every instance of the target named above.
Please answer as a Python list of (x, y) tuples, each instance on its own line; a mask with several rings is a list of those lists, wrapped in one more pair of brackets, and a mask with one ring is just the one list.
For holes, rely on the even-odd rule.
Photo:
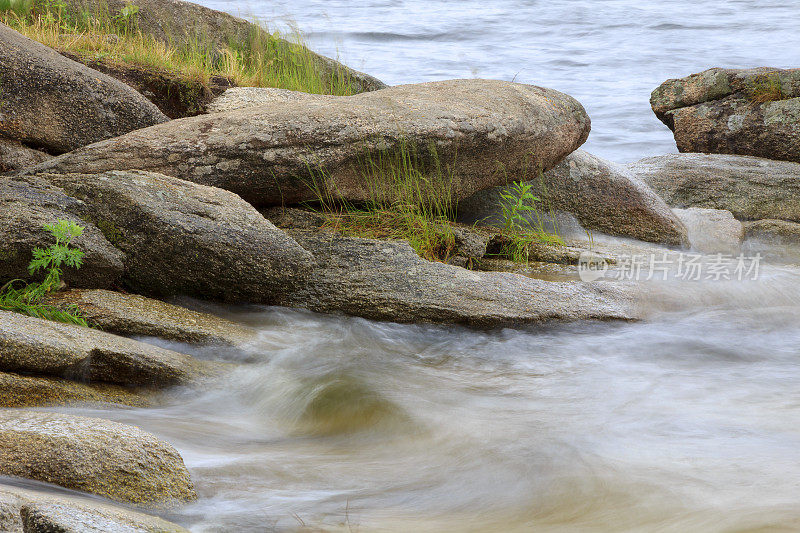
[(83, 205), (40, 179), (0, 177), (0, 281), (35, 279), (28, 273), (31, 250), (55, 242), (45, 224), (69, 220), (83, 227), (74, 240), (85, 256), (80, 270), (64, 269), (73, 287), (109, 287), (122, 278), (125, 255), (94, 225), (81, 218)]

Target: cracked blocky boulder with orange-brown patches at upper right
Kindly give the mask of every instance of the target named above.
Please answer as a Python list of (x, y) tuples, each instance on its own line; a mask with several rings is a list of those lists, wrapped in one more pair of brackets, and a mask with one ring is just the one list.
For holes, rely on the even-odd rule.
[(800, 162), (800, 69), (712, 68), (665, 81), (650, 105), (681, 152)]

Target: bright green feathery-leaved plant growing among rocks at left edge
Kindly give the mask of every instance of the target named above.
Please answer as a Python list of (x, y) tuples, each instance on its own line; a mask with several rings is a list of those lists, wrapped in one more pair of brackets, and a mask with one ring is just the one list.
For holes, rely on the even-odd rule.
[(79, 269), (83, 264), (84, 253), (71, 246), (73, 239), (83, 234), (83, 228), (68, 220), (46, 224), (44, 228), (55, 237), (56, 242), (47, 248), (34, 248), (33, 259), (28, 264), (31, 275), (44, 272), (44, 279), (39, 283), (25, 283), (24, 280), (15, 279), (0, 287), (0, 309), (88, 326), (77, 307), (70, 306), (62, 310), (42, 303), (48, 293), (61, 288), (62, 265)]

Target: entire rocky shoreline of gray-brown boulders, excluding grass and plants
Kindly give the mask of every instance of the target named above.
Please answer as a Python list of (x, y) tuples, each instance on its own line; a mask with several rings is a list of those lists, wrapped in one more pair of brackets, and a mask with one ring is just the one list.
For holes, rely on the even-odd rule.
[[(139, 29), (164, 40), (202, 33), (220, 47), (254, 28), (166, 4), (138, 2)], [(126, 84), (120, 69), (103, 74), (0, 24), (0, 285), (39, 280), (28, 264), (34, 248), (52, 244), (45, 224), (80, 225), (81, 268), (65, 269), (65, 286), (45, 303), (78, 309), (94, 326), (0, 310), (0, 475), (152, 512), (196, 498), (178, 452), (153, 435), (11, 409), (154, 406), (174, 387), (227, 372), (229, 363), (130, 338), (236, 347), (255, 334), (165, 301), (176, 296), (475, 328), (631, 321), (644, 318), (642, 284), (576, 279), (583, 253), (611, 264), (628, 253), (595, 245), (591, 232), (646, 253), (800, 242), (799, 69), (711, 69), (665, 82), (653, 111), (682, 152), (698, 153), (619, 165), (579, 149), (591, 121), (558, 91), (492, 80), (386, 87), (313, 57), (323, 78), (345, 69), (359, 94), (234, 87), (193, 107), (195, 116), (170, 119), (158, 95)], [(457, 209), (440, 261), (403, 240), (339, 231), (309, 205), (375, 194), (402, 202), (391, 175), (365, 181), (359, 169), (406, 146), (452, 176), (446, 200)], [(516, 181), (549, 206), (547, 224), (572, 225), (564, 242), (528, 242), (524, 265), (498, 252), (509, 239), (505, 187)], [(549, 279), (553, 270), (564, 275)], [(182, 531), (2, 484), (0, 530)]]

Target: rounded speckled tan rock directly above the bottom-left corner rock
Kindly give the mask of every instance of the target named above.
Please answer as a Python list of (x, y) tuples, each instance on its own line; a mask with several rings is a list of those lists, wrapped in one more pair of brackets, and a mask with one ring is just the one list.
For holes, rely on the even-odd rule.
[(133, 426), (60, 413), (0, 411), (0, 475), (150, 507), (197, 497), (169, 444)]

